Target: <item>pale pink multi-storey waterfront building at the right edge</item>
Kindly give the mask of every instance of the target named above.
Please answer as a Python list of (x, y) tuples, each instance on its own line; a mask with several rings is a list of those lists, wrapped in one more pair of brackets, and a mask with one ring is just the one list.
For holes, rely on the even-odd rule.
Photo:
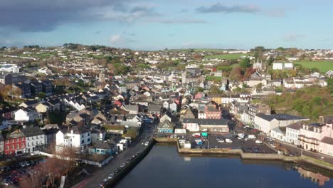
[(305, 150), (333, 156), (333, 121), (302, 125), (298, 141)]

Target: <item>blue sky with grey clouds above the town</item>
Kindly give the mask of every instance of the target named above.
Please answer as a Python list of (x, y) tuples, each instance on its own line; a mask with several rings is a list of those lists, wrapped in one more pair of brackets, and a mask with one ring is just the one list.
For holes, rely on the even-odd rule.
[(0, 0), (0, 46), (333, 48), (330, 0)]

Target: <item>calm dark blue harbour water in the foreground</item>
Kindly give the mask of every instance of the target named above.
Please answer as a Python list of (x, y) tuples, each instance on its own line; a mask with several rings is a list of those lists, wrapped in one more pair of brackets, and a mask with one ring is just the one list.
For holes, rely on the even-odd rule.
[[(155, 145), (149, 155), (117, 185), (145, 188), (333, 187), (324, 173), (294, 169), (294, 164), (244, 161), (238, 157), (179, 155), (174, 145)], [(303, 177), (305, 174), (308, 178)], [(312, 180), (310, 177), (312, 177)], [(314, 180), (319, 179), (319, 180)]]

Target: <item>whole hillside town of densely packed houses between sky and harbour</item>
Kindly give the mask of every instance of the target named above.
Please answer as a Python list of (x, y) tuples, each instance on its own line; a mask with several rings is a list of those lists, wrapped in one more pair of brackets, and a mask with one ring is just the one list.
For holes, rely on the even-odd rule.
[(0, 91), (4, 186), (108, 187), (159, 140), (333, 169), (332, 50), (4, 46)]

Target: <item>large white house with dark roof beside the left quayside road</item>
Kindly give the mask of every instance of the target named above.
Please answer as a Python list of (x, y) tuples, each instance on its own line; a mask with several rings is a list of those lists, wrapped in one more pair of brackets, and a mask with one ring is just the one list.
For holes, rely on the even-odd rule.
[(75, 147), (81, 151), (91, 143), (90, 130), (84, 127), (68, 127), (56, 134), (56, 150), (63, 147)]

